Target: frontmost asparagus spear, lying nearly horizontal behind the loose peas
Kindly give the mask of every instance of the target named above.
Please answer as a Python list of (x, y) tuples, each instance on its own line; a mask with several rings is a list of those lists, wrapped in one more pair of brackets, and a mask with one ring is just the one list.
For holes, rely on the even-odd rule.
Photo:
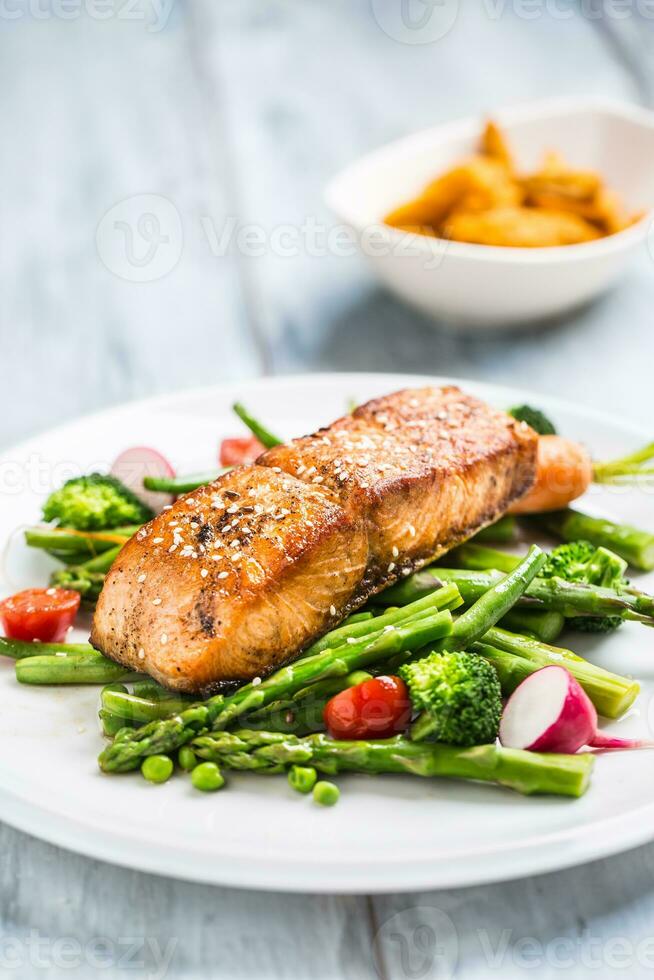
[(411, 742), (402, 736), (341, 742), (326, 735), (295, 738), (273, 732), (220, 732), (193, 740), (201, 758), (225, 768), (249, 772), (283, 772), (291, 765), (311, 765), (320, 772), (404, 773), (414, 776), (475, 779), (507, 786), (519, 793), (582, 796), (593, 768), (591, 753), (545, 755), (497, 745), (455, 748)]

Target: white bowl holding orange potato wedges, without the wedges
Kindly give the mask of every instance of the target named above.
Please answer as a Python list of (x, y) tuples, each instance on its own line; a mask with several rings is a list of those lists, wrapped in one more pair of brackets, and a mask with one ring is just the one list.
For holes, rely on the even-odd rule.
[(493, 112), (520, 168), (544, 151), (597, 170), (631, 211), (625, 231), (582, 245), (503, 248), (406, 234), (383, 224), (394, 207), (475, 148), (482, 117), (423, 130), (352, 164), (328, 186), (329, 207), (356, 233), (379, 279), (412, 306), (469, 327), (510, 327), (593, 299), (644, 248), (654, 208), (654, 113), (627, 103), (557, 99)]

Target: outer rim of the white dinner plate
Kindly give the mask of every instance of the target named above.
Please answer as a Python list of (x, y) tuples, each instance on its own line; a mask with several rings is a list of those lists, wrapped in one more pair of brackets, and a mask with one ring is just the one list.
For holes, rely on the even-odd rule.
[[(0, 453), (0, 461), (11, 453), (28, 451), (31, 445), (48, 437), (65, 437), (67, 431), (78, 426), (93, 424), (95, 420), (129, 414), (132, 411), (156, 409), (160, 406), (174, 410), (175, 405), (189, 397), (221, 399), (230, 393), (242, 395), (248, 387), (275, 389), (288, 385), (311, 384), (333, 386), (345, 383), (379, 384), (381, 387), (405, 387), (420, 384), (459, 384), (462, 387), (474, 386), (486, 390), (493, 398), (506, 393), (514, 399), (520, 395), (525, 400), (534, 399), (534, 392), (519, 387), (495, 384), (474, 378), (457, 378), (450, 375), (411, 375), (389, 372), (324, 372), (320, 374), (302, 373), (275, 375), (254, 379), (241, 379), (217, 385), (191, 387), (158, 394), (144, 399), (122, 402), (112, 407), (87, 413), (68, 420), (61, 425), (42, 430), (20, 443), (6, 448)], [(536, 393), (551, 410), (571, 412), (596, 423), (610, 423), (625, 433), (647, 438), (644, 428), (622, 419), (616, 419), (608, 412), (575, 405), (573, 402)], [(573, 803), (574, 801), (570, 801)], [(612, 854), (628, 851), (640, 844), (654, 839), (654, 802), (631, 810), (628, 814), (608, 817), (594, 823), (593, 834), (580, 835), (583, 828), (570, 827), (549, 835), (515, 845), (498, 844), (486, 849), (476, 849), (469, 857), (460, 854), (438, 861), (412, 861), (406, 858), (393, 859), (385, 856), (378, 862), (372, 858), (352, 862), (351, 859), (339, 863), (330, 856), (328, 862), (305, 867), (302, 863), (288, 861), (288, 856), (275, 855), (267, 858), (262, 865), (260, 857), (247, 862), (241, 853), (230, 857), (220, 855), (215, 861), (202, 860), (201, 854), (183, 848), (170, 848), (168, 844), (151, 840), (144, 847), (142, 838), (130, 835), (129, 831), (116, 826), (103, 827), (101, 821), (88, 815), (86, 818), (73, 818), (64, 815), (48, 802), (35, 801), (22, 794), (18, 787), (0, 786), (0, 819), (19, 830), (64, 847), (96, 860), (107, 861), (132, 870), (158, 874), (177, 879), (202, 882), (205, 884), (230, 887), (251, 888), (275, 892), (307, 892), (316, 894), (383, 894), (396, 890), (420, 890), (428, 888), (468, 887), (521, 878), (527, 875), (554, 872), (563, 868), (585, 864)], [(564, 801), (565, 805), (565, 801)], [(599, 832), (598, 832), (599, 831)], [(552, 843), (557, 846), (552, 848)], [(402, 864), (402, 870), (398, 865)]]

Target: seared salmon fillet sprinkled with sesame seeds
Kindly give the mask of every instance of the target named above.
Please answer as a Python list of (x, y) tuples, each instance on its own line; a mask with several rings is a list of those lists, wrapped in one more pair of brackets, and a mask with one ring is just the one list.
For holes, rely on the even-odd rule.
[(368, 402), (144, 525), (91, 642), (179, 691), (264, 676), (497, 520), (532, 487), (537, 441), (455, 387)]

